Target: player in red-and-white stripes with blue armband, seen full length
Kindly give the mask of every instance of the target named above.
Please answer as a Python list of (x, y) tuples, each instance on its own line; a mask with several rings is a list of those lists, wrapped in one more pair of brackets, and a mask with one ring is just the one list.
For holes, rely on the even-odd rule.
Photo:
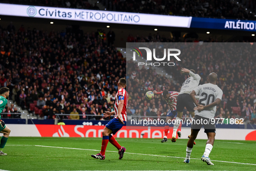
[(109, 117), (113, 114), (115, 114), (115, 117), (110, 120), (109, 123), (105, 126), (103, 132), (102, 132), (102, 145), (101, 145), (101, 151), (97, 155), (91, 155), (93, 158), (97, 158), (100, 160), (105, 159), (105, 152), (107, 148), (107, 143), (110, 142), (112, 145), (114, 145), (118, 149), (119, 153), (119, 159), (123, 158), (123, 153), (125, 152), (126, 148), (121, 147), (117, 140), (111, 136), (111, 134), (115, 135), (117, 131), (119, 131), (124, 125), (126, 125), (126, 107), (128, 103), (129, 95), (125, 90), (126, 87), (126, 79), (121, 78), (118, 83), (118, 91), (115, 97), (115, 110), (113, 112), (105, 111), (104, 117)]

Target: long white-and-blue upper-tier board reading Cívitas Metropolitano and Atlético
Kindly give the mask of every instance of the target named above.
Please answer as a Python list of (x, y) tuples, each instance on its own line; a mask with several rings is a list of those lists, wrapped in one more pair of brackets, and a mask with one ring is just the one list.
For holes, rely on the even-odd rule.
[(28, 6), (7, 3), (0, 3), (0, 15), (36, 17), (44, 19), (66, 19), (98, 23), (134, 24), (145, 26), (227, 29), (241, 31), (256, 30), (256, 21), (251, 20), (168, 16), (102, 10), (58, 8), (48, 6)]

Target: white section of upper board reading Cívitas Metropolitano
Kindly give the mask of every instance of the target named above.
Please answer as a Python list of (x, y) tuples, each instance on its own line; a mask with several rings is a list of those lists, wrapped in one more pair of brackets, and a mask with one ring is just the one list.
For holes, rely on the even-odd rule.
[(190, 27), (192, 19), (192, 17), (185, 16), (165, 16), (143, 13), (15, 5), (6, 3), (0, 3), (0, 15), (187, 28)]

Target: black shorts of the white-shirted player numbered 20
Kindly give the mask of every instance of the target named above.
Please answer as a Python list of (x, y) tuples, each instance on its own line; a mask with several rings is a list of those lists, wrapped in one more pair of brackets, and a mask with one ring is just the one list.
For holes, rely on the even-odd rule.
[[(200, 122), (199, 122), (200, 121)], [(199, 115), (194, 116), (192, 123), (191, 123), (191, 129), (195, 131), (200, 131), (200, 129), (204, 126), (204, 132), (215, 132), (215, 120), (211, 120), (211, 118), (205, 118)]]

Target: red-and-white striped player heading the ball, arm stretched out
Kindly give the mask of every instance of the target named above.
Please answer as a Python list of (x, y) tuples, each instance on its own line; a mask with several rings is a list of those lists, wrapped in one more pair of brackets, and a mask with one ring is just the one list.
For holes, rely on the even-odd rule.
[[(169, 126), (166, 125), (166, 123), (168, 123), (168, 120), (172, 120), (176, 115), (177, 115), (177, 111), (176, 111), (176, 105), (177, 105), (177, 97), (179, 92), (177, 91), (168, 91), (168, 90), (164, 90), (161, 92), (157, 92), (156, 90), (153, 91), (154, 94), (162, 94), (162, 96), (164, 97), (166, 103), (169, 106), (169, 110), (168, 113), (166, 115), (166, 119), (165, 119), (165, 136), (164, 139), (161, 142), (168, 142), (167, 139), (167, 134), (169, 131)], [(176, 133), (178, 134), (178, 137), (181, 137), (181, 132), (178, 131), (178, 126), (180, 125), (180, 118), (177, 116), (175, 119), (175, 124), (173, 126), (173, 133), (172, 133), (172, 142), (176, 142)]]

